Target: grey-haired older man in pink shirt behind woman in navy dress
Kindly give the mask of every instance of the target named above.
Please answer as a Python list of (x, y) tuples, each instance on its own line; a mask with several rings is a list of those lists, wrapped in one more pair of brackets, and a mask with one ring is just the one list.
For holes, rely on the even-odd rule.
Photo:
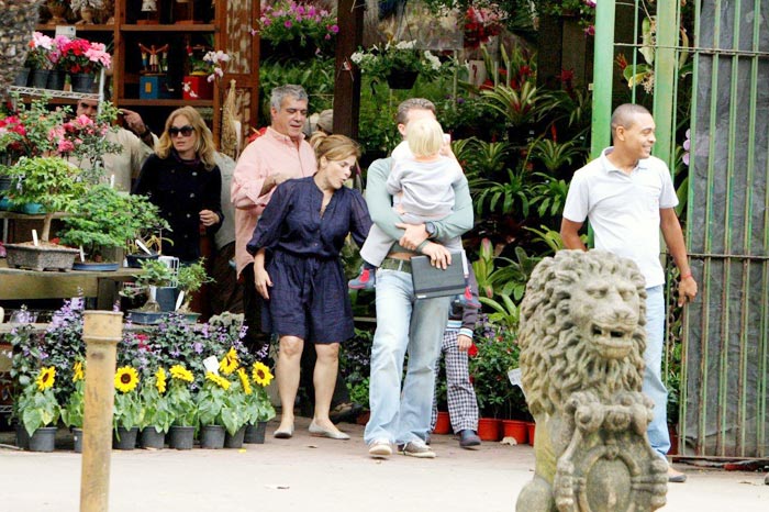
[(264, 135), (252, 142), (237, 160), (231, 197), (235, 205), (235, 261), (243, 278), (243, 307), (252, 350), (261, 348), (259, 342), (260, 300), (254, 283), (254, 257), (246, 244), (272, 196), (275, 187), (291, 178), (315, 174), (315, 154), (304, 141), (302, 129), (308, 115), (308, 94), (301, 86), (281, 86), (270, 97), (272, 122)]

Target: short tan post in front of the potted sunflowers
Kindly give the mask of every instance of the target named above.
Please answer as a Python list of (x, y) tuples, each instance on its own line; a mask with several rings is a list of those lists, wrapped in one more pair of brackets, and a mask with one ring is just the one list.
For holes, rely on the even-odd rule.
[(82, 424), (80, 512), (105, 512), (109, 505), (115, 353), (123, 313), (86, 311), (86, 409)]

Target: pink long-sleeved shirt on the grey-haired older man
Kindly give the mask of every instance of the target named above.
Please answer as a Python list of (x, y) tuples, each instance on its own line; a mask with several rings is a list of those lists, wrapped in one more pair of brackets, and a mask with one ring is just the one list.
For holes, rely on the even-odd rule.
[(271, 127), (243, 151), (231, 188), (231, 199), (235, 205), (235, 263), (238, 276), (246, 265), (254, 261), (254, 257), (246, 252), (246, 244), (275, 190), (264, 196), (260, 193), (267, 177), (274, 172), (288, 172), (294, 178), (302, 178), (314, 175), (315, 170), (315, 153), (307, 141), (294, 141)]

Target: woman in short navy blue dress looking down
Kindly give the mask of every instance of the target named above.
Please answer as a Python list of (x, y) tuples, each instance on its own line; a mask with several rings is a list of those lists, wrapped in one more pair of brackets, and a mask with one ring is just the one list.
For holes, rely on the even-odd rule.
[(315, 411), (310, 433), (348, 439), (328, 419), (339, 343), (354, 334), (339, 251), (348, 234), (363, 245), (371, 219), (360, 192), (344, 186), (359, 146), (343, 135), (316, 135), (317, 171), (278, 186), (247, 245), (256, 289), (265, 298), (263, 330), (280, 338), (276, 378), (283, 404), (275, 437), (293, 435), (304, 341), (315, 344)]

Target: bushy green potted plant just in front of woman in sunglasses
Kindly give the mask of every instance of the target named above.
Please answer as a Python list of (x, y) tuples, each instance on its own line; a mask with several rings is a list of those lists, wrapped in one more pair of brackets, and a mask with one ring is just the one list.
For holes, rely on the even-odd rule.
[(92, 261), (76, 264), (78, 270), (90, 269), (93, 265), (98, 265), (98, 270), (116, 270), (120, 264), (107, 263), (105, 249), (124, 247), (143, 227), (165, 222), (146, 197), (121, 193), (108, 185), (91, 188), (89, 193), (77, 199), (73, 211), (64, 219), (60, 242), (82, 247)]

